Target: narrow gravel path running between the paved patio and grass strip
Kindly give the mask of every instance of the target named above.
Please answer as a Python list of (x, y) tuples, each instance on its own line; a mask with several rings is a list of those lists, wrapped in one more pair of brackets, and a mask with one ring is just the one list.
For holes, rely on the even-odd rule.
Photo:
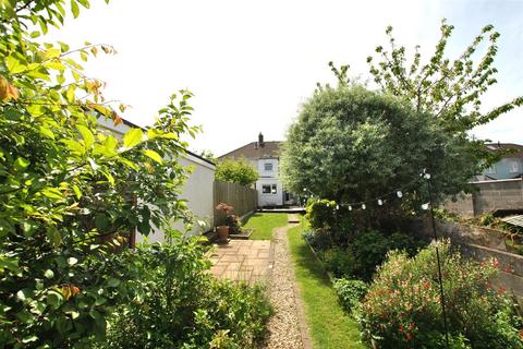
[[(265, 346), (267, 349), (309, 348), (306, 329), (300, 328), (301, 323), (302, 327), (304, 326), (304, 318), (301, 301), (296, 296), (296, 279), (287, 241), (287, 231), (293, 226), (295, 225), (291, 224), (275, 229), (275, 262), (269, 284), (269, 298), (275, 308), (275, 315), (268, 324), (269, 334)], [(302, 336), (305, 338), (303, 341)]]

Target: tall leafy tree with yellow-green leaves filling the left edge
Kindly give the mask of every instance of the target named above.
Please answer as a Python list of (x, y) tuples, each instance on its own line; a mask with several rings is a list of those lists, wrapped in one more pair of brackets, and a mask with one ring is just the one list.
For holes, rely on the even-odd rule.
[(0, 347), (102, 336), (112, 305), (133, 291), (123, 282), (133, 278), (131, 254), (112, 252), (135, 229), (188, 218), (177, 158), (180, 136), (197, 131), (187, 124), (191, 94), (171, 96), (153, 127), (119, 140), (97, 119), (118, 124), (125, 107), (105, 100), (81, 63), (113, 49), (34, 40), (61, 26), (65, 7), (77, 16), (88, 5), (0, 2)]

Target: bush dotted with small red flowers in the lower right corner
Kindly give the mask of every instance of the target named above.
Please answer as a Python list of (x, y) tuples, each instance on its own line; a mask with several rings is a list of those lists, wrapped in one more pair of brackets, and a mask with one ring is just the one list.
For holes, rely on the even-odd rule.
[[(497, 262), (464, 260), (451, 253), (448, 241), (438, 246), (448, 328), (455, 346), (523, 348), (513, 301), (490, 285)], [(364, 340), (379, 348), (445, 348), (437, 270), (434, 244), (412, 258), (391, 252), (362, 303)]]

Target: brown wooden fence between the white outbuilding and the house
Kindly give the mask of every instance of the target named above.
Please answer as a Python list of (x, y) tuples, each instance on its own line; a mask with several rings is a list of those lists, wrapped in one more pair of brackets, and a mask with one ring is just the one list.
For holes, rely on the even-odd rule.
[[(232, 205), (232, 214), (241, 217), (258, 207), (258, 192), (236, 183), (215, 181), (214, 202), (215, 207), (219, 203)], [(215, 208), (215, 225), (222, 225), (226, 215)]]

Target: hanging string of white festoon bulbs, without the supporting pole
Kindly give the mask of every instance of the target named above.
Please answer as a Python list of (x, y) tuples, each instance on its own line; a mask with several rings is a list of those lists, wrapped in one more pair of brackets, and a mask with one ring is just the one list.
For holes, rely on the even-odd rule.
[[(422, 177), (426, 180), (429, 180), (430, 179), (430, 173), (428, 173), (426, 171), (426, 169), (423, 169), (423, 171), (419, 173), (419, 177)], [(415, 178), (406, 184), (403, 184), (401, 186), (397, 186), (397, 189), (394, 189), (393, 191), (384, 193), (381, 195), (375, 196), (375, 197), (369, 198), (369, 200), (353, 202), (353, 203), (345, 203), (345, 202), (339, 202), (338, 203), (338, 202), (335, 202), (335, 204), (332, 204), (332, 206), (337, 210), (340, 209), (341, 207), (346, 207), (346, 209), (349, 209), (349, 210), (367, 209), (367, 205), (370, 205), (370, 204), (376, 204), (377, 206), (384, 206), (387, 202), (391, 201), (392, 198), (401, 200), (403, 197), (404, 193), (406, 192), (406, 189), (414, 185), (418, 181), (419, 181), (419, 178)], [(319, 195), (316, 195), (315, 193), (313, 193), (307, 188), (304, 188), (303, 192), (304, 193), (309, 193), (311, 198), (316, 197), (317, 200), (321, 200), (321, 197)], [(308, 197), (308, 196), (305, 195), (305, 197)], [(427, 210), (428, 207), (429, 207), (429, 203), (425, 203), (425, 204), (422, 205), (422, 209)]]

